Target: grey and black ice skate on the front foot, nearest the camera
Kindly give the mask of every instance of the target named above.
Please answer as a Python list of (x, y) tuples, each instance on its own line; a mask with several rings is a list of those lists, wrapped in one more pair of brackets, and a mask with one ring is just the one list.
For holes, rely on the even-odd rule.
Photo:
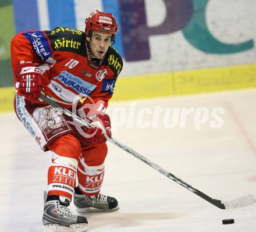
[(44, 231), (84, 232), (88, 230), (86, 217), (77, 216), (72, 213), (67, 208), (69, 204), (70, 202), (67, 198), (65, 201), (61, 201), (59, 196), (48, 196), (47, 192), (44, 192), (44, 215), (42, 216), (42, 223), (45, 227)]

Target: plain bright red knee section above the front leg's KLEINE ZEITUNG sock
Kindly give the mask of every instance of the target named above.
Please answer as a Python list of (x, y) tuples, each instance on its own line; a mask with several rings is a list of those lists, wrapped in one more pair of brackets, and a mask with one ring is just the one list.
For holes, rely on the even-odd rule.
[(55, 140), (48, 148), (53, 152), (52, 159), (55, 156), (65, 156), (78, 160), (81, 155), (81, 144), (72, 134), (66, 134)]

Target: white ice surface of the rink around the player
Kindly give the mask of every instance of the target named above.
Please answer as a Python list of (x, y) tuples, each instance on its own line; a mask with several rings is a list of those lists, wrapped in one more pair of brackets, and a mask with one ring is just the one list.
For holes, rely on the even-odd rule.
[[(215, 199), (256, 195), (256, 90), (136, 101), (136, 109), (223, 108), (223, 127), (116, 127), (113, 137)], [(128, 109), (130, 102), (112, 103)], [(144, 120), (150, 122), (151, 116)], [(42, 231), (43, 191), (51, 153), (44, 153), (14, 113), (0, 115), (0, 231)], [(222, 210), (109, 144), (102, 193), (120, 210), (86, 215), (93, 232), (253, 232), (256, 204)], [(70, 206), (74, 210), (74, 205)], [(222, 219), (235, 223), (223, 225)]]

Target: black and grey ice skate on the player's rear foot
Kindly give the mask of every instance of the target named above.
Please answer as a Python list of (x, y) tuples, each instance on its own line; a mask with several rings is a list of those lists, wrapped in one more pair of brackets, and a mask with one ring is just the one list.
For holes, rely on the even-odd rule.
[(83, 195), (78, 188), (74, 192), (74, 205), (77, 213), (94, 213), (118, 210), (116, 198), (98, 194), (94, 197)]

